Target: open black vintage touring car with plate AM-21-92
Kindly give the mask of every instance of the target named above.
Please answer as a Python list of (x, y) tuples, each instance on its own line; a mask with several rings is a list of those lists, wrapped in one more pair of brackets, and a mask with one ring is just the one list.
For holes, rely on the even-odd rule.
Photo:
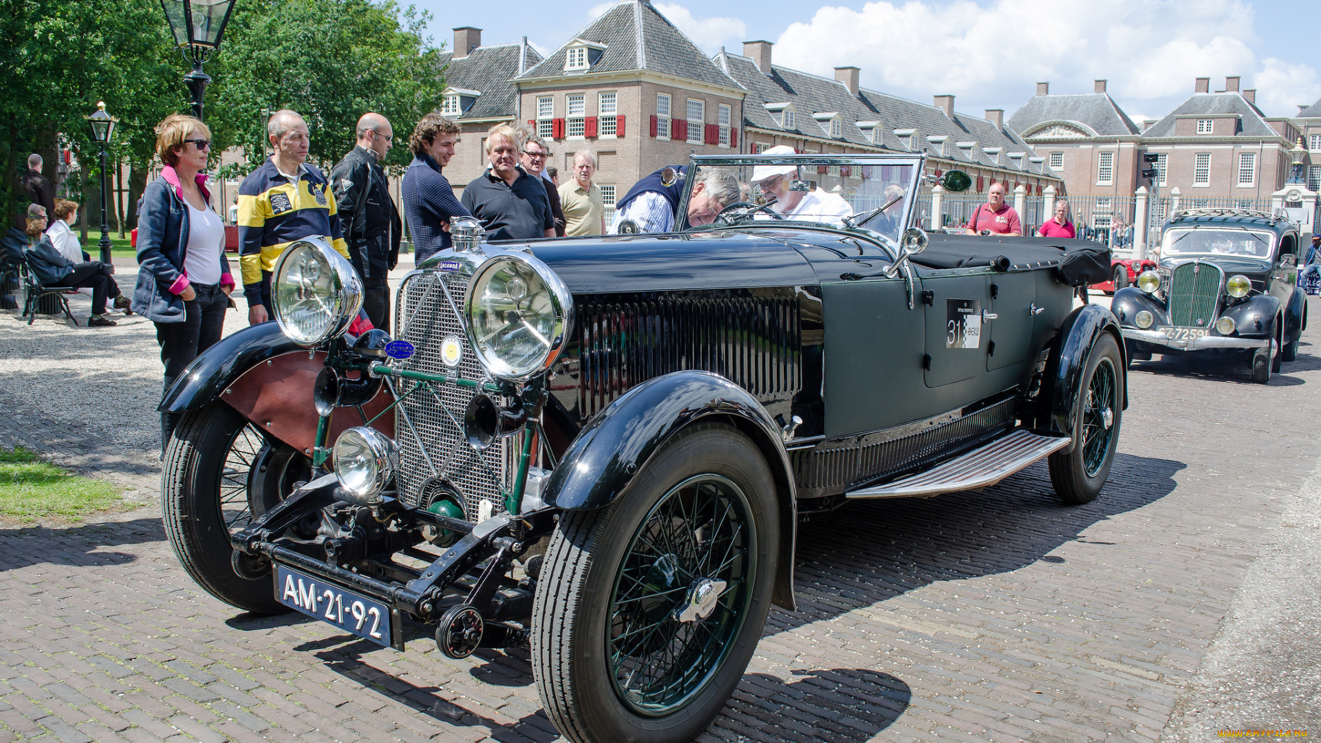
[(293, 243), (277, 323), (162, 403), (188, 411), (164, 475), (176, 553), (242, 609), (400, 650), (421, 623), (450, 657), (530, 645), (571, 740), (691, 740), (770, 606), (794, 606), (798, 514), (1041, 459), (1066, 502), (1108, 476), (1123, 341), (1075, 308), (1108, 251), (929, 241), (905, 229), (922, 171), (694, 157), (667, 176), (678, 214), (695, 182), (753, 201), (668, 234), (499, 246), (456, 221), (391, 334), (346, 336), (358, 278)]

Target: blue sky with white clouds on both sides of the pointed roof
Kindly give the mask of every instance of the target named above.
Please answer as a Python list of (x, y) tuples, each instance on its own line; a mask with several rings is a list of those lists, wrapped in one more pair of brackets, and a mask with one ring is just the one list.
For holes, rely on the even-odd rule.
[[(450, 28), (485, 29), (483, 44), (527, 36), (548, 53), (613, 3), (489, 3), (416, 0), (432, 13), (436, 42)], [(1321, 4), (1279, 0), (909, 0), (819, 4), (787, 0), (655, 1), (697, 46), (741, 53), (742, 42), (774, 41), (777, 65), (831, 77), (861, 67), (863, 86), (930, 103), (954, 94), (966, 114), (1013, 114), (1050, 82), (1052, 93), (1108, 91), (1135, 120), (1160, 118), (1193, 93), (1193, 81), (1226, 75), (1256, 89), (1271, 116), (1321, 98), (1314, 28)], [(456, 13), (456, 7), (461, 8)], [(524, 9), (526, 8), (526, 9)]]

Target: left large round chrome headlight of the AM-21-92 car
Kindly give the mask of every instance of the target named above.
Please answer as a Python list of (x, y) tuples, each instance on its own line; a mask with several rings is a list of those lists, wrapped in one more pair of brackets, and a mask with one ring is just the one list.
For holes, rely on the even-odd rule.
[(271, 303), (280, 331), (291, 341), (317, 345), (353, 323), (362, 308), (362, 279), (321, 238), (300, 239), (275, 262)]

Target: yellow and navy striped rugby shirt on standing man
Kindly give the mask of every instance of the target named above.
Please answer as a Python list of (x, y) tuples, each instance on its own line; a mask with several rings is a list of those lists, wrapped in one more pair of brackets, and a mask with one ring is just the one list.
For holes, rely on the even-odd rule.
[(308, 237), (330, 238), (336, 251), (349, 258), (334, 190), (320, 169), (303, 165), (297, 181), (291, 181), (275, 167), (275, 160), (267, 160), (243, 178), (239, 267), (248, 305), (262, 304), (262, 271), (272, 271), (275, 259), (291, 242)]

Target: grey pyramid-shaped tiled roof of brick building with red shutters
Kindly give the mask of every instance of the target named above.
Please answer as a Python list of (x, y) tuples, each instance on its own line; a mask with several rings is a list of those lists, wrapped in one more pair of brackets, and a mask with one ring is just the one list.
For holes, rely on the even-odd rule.
[[(592, 63), (585, 75), (650, 70), (723, 87), (737, 87), (683, 32), (653, 8), (651, 3), (639, 0), (620, 3), (573, 36), (605, 45), (601, 58)], [(572, 44), (571, 40), (556, 49), (519, 79), (563, 75), (567, 50)]]

